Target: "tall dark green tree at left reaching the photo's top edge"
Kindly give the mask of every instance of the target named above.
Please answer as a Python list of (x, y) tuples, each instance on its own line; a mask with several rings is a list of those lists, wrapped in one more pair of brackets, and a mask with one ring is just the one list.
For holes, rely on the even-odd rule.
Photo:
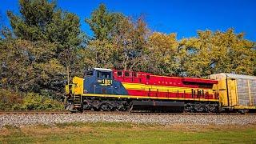
[(58, 10), (55, 1), (20, 0), (19, 3), (21, 15), (7, 12), (14, 34), (30, 42), (54, 43), (54, 58), (66, 66), (69, 82), (75, 54), (82, 43), (78, 16)]

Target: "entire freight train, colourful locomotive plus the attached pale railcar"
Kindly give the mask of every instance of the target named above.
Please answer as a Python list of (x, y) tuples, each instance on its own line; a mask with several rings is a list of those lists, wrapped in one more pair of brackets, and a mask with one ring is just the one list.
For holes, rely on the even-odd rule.
[(66, 110), (219, 112), (256, 110), (256, 77), (179, 78), (94, 68), (66, 85)]

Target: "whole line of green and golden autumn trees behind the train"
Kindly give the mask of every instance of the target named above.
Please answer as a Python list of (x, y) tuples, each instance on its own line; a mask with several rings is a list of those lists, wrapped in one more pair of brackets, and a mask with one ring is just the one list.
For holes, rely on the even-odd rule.
[(178, 40), (175, 33), (150, 30), (143, 15), (132, 18), (100, 4), (82, 18), (90, 36), (78, 15), (55, 1), (19, 0), (19, 14), (6, 14), (11, 27), (1, 27), (0, 87), (17, 94), (59, 100), (65, 84), (92, 67), (196, 78), (256, 75), (255, 42), (231, 28)]

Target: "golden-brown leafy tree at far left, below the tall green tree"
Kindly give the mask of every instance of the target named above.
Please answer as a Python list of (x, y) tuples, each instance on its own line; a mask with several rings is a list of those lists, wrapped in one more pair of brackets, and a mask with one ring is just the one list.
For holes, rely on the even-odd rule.
[(60, 98), (65, 68), (53, 58), (56, 46), (46, 42), (8, 39), (0, 46), (1, 87)]

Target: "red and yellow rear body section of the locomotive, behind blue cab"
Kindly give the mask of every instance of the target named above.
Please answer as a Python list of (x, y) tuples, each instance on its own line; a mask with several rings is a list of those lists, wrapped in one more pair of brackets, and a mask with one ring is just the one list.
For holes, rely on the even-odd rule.
[[(142, 72), (114, 70), (114, 79), (122, 82), (130, 96), (177, 100), (218, 100), (212, 86), (217, 81), (202, 78), (166, 77)], [(139, 79), (139, 80), (138, 80)]]

